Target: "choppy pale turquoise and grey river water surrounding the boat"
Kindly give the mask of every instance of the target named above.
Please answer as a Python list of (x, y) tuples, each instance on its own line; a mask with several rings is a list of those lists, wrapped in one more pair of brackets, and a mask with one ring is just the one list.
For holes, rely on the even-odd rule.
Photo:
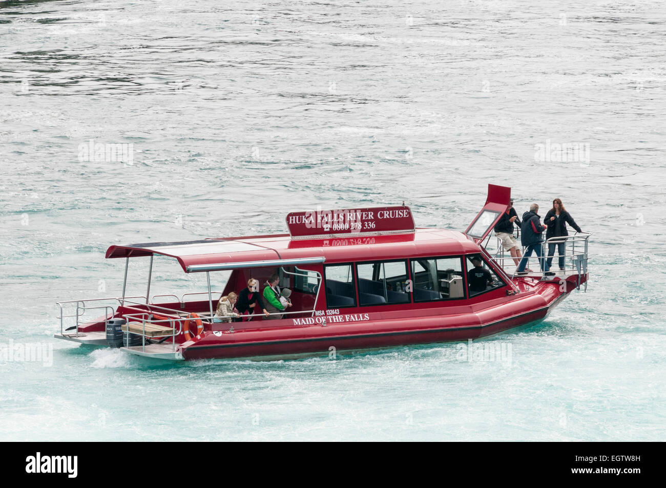
[[(0, 1), (0, 342), (53, 346), (0, 362), (1, 437), (663, 439), (665, 20), (657, 1)], [(57, 300), (120, 293), (110, 244), (403, 200), (462, 230), (488, 182), (594, 233), (587, 294), (491, 339), (510, 360), (172, 365), (51, 338)], [(156, 260), (151, 292), (203, 288)]]

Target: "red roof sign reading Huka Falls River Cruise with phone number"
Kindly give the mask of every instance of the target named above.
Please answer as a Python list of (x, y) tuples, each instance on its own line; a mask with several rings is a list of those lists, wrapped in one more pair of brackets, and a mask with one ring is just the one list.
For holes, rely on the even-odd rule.
[(292, 237), (414, 231), (408, 206), (291, 212), (286, 222)]

